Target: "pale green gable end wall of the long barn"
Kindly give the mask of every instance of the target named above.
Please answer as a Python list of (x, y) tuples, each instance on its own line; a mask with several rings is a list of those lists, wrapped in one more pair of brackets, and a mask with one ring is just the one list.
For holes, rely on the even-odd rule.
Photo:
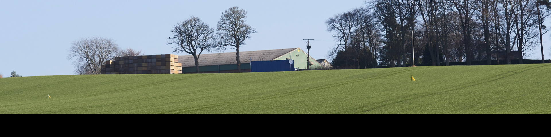
[[(300, 50), (300, 51), (299, 51)], [(287, 58), (290, 58), (294, 61), (295, 67), (299, 69), (306, 69), (307, 61), (306, 61), (306, 51), (302, 51), (302, 49), (299, 50), (293, 50), (293, 52), (290, 52), (287, 55), (283, 55), (282, 57), (279, 57), (275, 60), (285, 60)], [(314, 65), (310, 66), (310, 70), (315, 70), (316, 68), (322, 68), (323, 66), (317, 62), (314, 58), (310, 58), (310, 61), (314, 62)]]

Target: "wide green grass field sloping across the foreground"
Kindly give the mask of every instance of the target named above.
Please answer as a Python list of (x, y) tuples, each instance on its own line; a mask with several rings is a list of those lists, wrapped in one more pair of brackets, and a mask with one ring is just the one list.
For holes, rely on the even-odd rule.
[(551, 113), (549, 105), (551, 64), (0, 78), (3, 114)]

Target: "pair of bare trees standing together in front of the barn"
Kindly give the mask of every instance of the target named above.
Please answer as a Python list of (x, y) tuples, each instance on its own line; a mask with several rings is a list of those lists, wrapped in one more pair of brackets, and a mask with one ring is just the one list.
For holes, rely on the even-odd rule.
[(255, 28), (245, 24), (246, 14), (247, 11), (239, 7), (225, 10), (216, 25), (216, 32), (198, 17), (190, 16), (172, 28), (168, 44), (175, 45), (176, 53), (193, 56), (196, 73), (199, 73), (199, 57), (204, 51), (235, 49), (237, 72), (241, 72), (239, 47), (245, 45), (244, 41), (251, 38), (251, 33), (256, 33)]

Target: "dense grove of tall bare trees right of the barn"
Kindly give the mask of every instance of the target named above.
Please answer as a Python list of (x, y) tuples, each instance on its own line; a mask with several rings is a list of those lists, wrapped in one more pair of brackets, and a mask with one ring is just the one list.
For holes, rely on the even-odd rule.
[(501, 64), (523, 64), (539, 47), (543, 63), (550, 9), (548, 0), (366, 1), (326, 21), (337, 41), (328, 56), (336, 68), (405, 67), (413, 60), (491, 65), (492, 56), (505, 56)]

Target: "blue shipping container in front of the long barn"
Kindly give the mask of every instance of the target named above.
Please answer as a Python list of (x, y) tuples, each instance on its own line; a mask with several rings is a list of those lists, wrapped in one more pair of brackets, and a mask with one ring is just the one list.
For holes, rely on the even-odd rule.
[(289, 60), (251, 61), (251, 72), (292, 71), (294, 67)]

